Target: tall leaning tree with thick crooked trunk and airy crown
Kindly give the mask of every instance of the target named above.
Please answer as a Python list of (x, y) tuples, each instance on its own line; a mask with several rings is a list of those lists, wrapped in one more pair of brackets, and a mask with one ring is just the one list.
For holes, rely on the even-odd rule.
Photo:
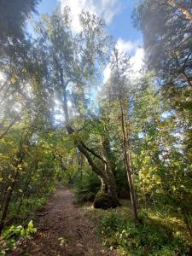
[[(48, 89), (61, 102), (67, 132), (73, 137), (76, 147), (84, 154), (92, 170), (105, 184), (102, 188), (107, 188), (105, 192), (111, 201), (110, 206), (117, 207), (119, 201), (115, 187), (104, 167), (108, 166), (108, 161), (83, 142), (78, 130), (73, 128), (68, 108), (68, 101), (71, 101), (77, 112), (74, 114), (79, 114), (82, 118), (84, 114), (88, 115), (86, 91), (96, 78), (96, 67), (106, 59), (106, 45), (110, 40), (103, 21), (96, 15), (83, 12), (80, 21), (82, 32), (74, 34), (68, 8), (62, 14), (56, 10), (50, 17), (44, 15), (37, 26), (38, 39), (47, 55)], [(102, 161), (101, 167), (95, 164), (94, 158)]]

